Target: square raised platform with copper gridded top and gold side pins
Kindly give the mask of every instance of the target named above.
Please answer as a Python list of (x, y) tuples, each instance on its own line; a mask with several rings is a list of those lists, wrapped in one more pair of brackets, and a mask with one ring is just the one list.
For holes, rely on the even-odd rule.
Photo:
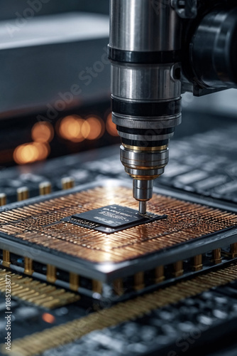
[[(143, 221), (136, 205), (126, 184), (107, 181), (3, 209), (2, 265), (93, 298), (124, 298), (236, 258), (235, 213), (155, 193)], [(120, 231), (72, 219), (105, 213)]]

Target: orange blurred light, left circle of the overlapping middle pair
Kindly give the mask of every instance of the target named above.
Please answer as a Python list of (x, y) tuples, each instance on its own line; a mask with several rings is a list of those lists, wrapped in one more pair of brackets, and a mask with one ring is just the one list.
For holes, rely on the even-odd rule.
[(60, 136), (72, 142), (82, 142), (84, 140), (84, 135), (82, 135), (83, 124), (84, 120), (77, 115), (64, 117), (60, 122)]

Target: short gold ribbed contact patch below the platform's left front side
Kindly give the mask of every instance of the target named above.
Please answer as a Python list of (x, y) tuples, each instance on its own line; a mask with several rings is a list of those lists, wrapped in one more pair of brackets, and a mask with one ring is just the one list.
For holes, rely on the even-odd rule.
[(79, 295), (67, 292), (65, 289), (50, 286), (47, 283), (34, 281), (33, 278), (23, 277), (11, 271), (0, 269), (0, 292), (6, 288), (6, 275), (11, 278), (11, 295), (28, 303), (43, 308), (56, 308), (79, 300)]

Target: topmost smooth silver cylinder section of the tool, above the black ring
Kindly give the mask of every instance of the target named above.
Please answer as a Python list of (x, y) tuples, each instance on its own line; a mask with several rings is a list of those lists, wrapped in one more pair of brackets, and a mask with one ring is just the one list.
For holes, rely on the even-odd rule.
[(180, 18), (170, 4), (111, 0), (110, 46), (123, 51), (173, 51), (180, 48)]

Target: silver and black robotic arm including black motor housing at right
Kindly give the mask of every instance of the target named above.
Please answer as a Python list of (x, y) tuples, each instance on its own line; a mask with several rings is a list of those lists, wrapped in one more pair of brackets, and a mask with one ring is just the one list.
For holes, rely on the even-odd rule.
[(145, 214), (181, 123), (181, 94), (237, 87), (237, 7), (228, 0), (110, 1), (112, 118)]

